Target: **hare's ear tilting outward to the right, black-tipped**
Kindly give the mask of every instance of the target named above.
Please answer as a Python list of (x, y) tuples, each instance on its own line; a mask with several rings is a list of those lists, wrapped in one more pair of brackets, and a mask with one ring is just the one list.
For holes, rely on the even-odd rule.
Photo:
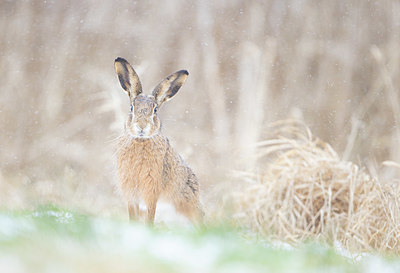
[(188, 75), (189, 72), (186, 70), (179, 70), (166, 77), (154, 88), (153, 96), (159, 106), (170, 100), (178, 92)]

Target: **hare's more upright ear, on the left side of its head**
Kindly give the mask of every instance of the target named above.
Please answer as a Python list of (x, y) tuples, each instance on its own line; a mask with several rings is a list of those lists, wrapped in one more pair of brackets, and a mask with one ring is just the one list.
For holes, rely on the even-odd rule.
[(128, 93), (131, 102), (142, 93), (142, 84), (132, 66), (124, 58), (116, 58), (114, 61), (115, 71), (118, 74), (122, 88)]

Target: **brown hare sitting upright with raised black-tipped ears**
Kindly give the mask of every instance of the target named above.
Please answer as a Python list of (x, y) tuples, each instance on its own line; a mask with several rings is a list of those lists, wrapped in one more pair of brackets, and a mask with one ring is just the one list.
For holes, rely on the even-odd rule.
[(162, 80), (151, 95), (145, 95), (138, 75), (125, 59), (115, 59), (114, 65), (131, 105), (117, 151), (120, 186), (128, 201), (129, 218), (139, 217), (139, 203), (143, 201), (147, 222), (153, 223), (157, 201), (162, 197), (192, 222), (200, 223), (203, 211), (198, 180), (162, 135), (157, 115), (161, 105), (178, 92), (189, 73), (175, 72)]

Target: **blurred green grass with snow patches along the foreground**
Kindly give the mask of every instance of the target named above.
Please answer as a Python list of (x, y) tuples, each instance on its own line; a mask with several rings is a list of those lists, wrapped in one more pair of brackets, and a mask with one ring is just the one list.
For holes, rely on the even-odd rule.
[(151, 228), (54, 206), (0, 212), (0, 272), (372, 272), (374, 259), (380, 273), (399, 269), (396, 259), (282, 249), (228, 227)]

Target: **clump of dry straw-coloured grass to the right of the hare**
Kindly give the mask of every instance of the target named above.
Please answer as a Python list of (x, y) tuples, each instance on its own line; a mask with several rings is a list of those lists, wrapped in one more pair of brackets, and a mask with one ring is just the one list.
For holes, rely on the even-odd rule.
[[(274, 125), (258, 147), (254, 184), (234, 195), (235, 219), (273, 239), (400, 253), (399, 187), (343, 161), (296, 122)], [(264, 160), (263, 160), (264, 158)], [(268, 161), (265, 161), (268, 158)]]

